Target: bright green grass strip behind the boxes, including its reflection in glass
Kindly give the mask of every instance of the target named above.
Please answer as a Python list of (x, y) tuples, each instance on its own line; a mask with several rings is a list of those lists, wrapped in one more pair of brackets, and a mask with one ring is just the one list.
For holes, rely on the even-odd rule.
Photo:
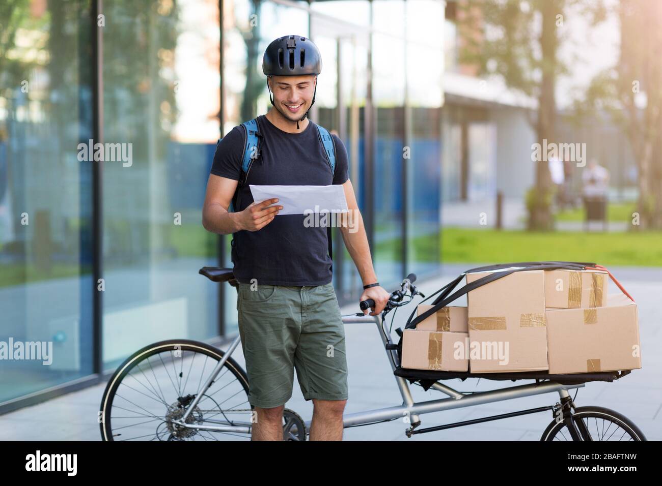
[[(517, 261), (589, 261), (605, 265), (662, 266), (662, 231), (641, 233), (576, 233), (496, 231), (445, 228), (439, 235), (412, 241), (418, 261), (507, 263)], [(378, 259), (393, 259), (396, 241), (375, 249)], [(439, 249), (441, 246), (441, 250)], [(437, 253), (440, 251), (441, 255)]]

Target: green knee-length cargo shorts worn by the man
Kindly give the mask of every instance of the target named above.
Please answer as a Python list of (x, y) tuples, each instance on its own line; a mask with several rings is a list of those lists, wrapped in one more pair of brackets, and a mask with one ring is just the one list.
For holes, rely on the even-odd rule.
[(345, 328), (333, 284), (253, 288), (240, 283), (237, 299), (248, 401), (285, 404), (295, 369), (306, 400), (348, 399)]

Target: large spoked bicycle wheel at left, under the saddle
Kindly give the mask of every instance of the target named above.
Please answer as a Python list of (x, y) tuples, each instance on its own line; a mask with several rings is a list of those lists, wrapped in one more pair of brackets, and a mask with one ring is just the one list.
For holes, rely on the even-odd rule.
[[(230, 440), (250, 433), (176, 425), (203, 393), (224, 352), (206, 343), (173, 339), (150, 344), (127, 358), (109, 380), (99, 418), (103, 440)], [(195, 426), (250, 426), (246, 372), (228, 358), (185, 420)]]

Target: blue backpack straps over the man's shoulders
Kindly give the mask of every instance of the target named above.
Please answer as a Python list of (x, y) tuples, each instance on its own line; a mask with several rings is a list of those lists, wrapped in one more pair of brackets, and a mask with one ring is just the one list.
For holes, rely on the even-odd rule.
[[(258, 119), (253, 118), (248, 122), (242, 123), (244, 127), (244, 153), (242, 154), (242, 173), (239, 177), (239, 184), (234, 196), (232, 197), (232, 202), (230, 202), (230, 207), (228, 211), (234, 212), (234, 208), (238, 207), (237, 198), (239, 194), (239, 189), (246, 184), (248, 179), (248, 173), (250, 173), (250, 168), (254, 161), (260, 158), (260, 139), (262, 138), (260, 130), (258, 127)], [(326, 153), (326, 161), (331, 167), (331, 173), (335, 172), (336, 169), (336, 147), (333, 141), (331, 134), (323, 126), (316, 125), (319, 140), (324, 147), (324, 153)], [(220, 140), (218, 140), (220, 142)], [(331, 241), (331, 227), (326, 227), (326, 235), (328, 237), (329, 243), (329, 257), (333, 259), (333, 247)], [(230, 242), (232, 247), (234, 247), (234, 238)], [(333, 271), (333, 266), (331, 266)]]

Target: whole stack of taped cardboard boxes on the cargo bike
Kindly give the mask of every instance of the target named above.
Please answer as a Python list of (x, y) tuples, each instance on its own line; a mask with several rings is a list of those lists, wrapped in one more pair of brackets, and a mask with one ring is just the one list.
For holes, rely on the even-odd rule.
[[(500, 270), (496, 270), (500, 271)], [(491, 272), (467, 274), (467, 284)], [(637, 306), (600, 270), (521, 270), (405, 329), (402, 368), (571, 374), (641, 368)], [(418, 314), (431, 305), (419, 305)]]

